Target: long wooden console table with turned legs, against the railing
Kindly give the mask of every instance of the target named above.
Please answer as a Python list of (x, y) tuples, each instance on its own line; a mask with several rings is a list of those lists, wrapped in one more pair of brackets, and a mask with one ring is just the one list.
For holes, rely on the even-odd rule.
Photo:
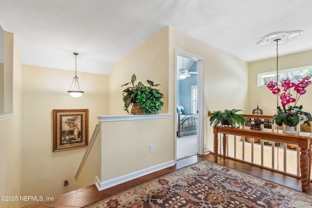
[(300, 148), (300, 178), (302, 191), (307, 192), (308, 184), (311, 179), (311, 164), (312, 164), (312, 138), (310, 133), (301, 133), (300, 135), (284, 134), (277, 132), (263, 132), (250, 129), (236, 129), (230, 127), (215, 127), (215, 162), (218, 162), (218, 134), (223, 133), (223, 157), (226, 158), (226, 134), (245, 136), (251, 138), (264, 139), (274, 142), (297, 144)]

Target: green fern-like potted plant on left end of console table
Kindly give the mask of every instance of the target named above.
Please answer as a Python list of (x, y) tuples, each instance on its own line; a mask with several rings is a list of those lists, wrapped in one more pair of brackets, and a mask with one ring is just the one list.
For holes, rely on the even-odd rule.
[(232, 109), (224, 111), (214, 111), (210, 115), (210, 126), (214, 125), (214, 127), (218, 126), (220, 123), (222, 125), (231, 126), (234, 128), (235, 123), (239, 126), (245, 126), (246, 119), (243, 115), (236, 114), (241, 110)]

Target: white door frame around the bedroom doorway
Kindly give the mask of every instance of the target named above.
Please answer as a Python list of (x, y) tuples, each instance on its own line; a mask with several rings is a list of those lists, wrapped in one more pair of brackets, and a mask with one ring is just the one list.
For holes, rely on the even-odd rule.
[[(175, 49), (175, 109), (177, 102), (177, 56), (186, 57), (197, 61), (197, 154), (204, 154), (204, 58), (196, 54)], [(177, 116), (175, 117), (175, 162), (176, 162), (176, 130), (177, 130)]]

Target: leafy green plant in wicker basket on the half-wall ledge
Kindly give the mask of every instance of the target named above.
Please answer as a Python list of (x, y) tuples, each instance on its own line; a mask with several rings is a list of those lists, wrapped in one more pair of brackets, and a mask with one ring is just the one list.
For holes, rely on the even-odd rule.
[[(160, 111), (163, 106), (163, 102), (161, 98), (164, 97), (162, 93), (159, 92), (158, 89), (152, 88), (156, 87), (159, 84), (154, 84), (153, 81), (147, 80), (146, 82), (150, 86), (145, 86), (142, 82), (138, 82), (135, 85), (135, 81), (137, 77), (135, 74), (131, 77), (131, 82), (128, 82), (123, 86), (127, 86), (128, 84), (132, 84), (131, 87), (127, 87), (125, 90), (122, 91), (124, 101), (124, 110), (128, 111), (128, 108), (131, 104), (132, 105), (132, 114), (155, 114)], [(137, 110), (136, 110), (137, 109)]]

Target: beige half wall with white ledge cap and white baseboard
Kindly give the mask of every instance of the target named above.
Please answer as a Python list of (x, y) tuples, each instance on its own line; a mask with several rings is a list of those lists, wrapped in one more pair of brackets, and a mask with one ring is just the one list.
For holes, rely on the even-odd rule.
[(98, 190), (175, 165), (170, 114), (97, 117), (101, 139)]

